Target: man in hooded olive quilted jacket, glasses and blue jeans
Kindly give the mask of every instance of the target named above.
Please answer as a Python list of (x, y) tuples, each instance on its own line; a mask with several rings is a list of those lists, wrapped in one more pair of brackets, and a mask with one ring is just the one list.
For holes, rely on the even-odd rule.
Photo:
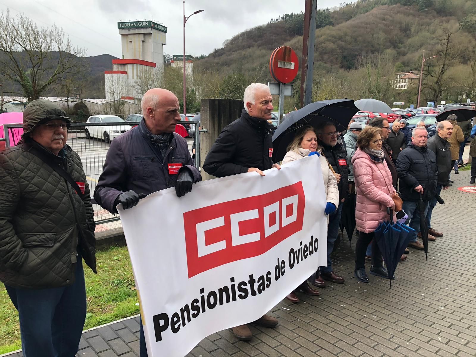
[(71, 357), (86, 317), (82, 260), (96, 273), (94, 215), (70, 119), (48, 100), (23, 111), (0, 153), (0, 280), (20, 317), (24, 357)]

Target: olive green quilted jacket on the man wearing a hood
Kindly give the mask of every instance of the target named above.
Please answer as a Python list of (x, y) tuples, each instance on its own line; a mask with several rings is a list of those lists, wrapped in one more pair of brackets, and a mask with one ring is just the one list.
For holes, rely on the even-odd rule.
[(61, 158), (39, 146), (77, 182), (83, 199), (33, 155), (29, 143), (0, 152), (0, 280), (14, 288), (57, 288), (74, 282), (77, 251), (96, 272), (95, 223), (79, 155)]

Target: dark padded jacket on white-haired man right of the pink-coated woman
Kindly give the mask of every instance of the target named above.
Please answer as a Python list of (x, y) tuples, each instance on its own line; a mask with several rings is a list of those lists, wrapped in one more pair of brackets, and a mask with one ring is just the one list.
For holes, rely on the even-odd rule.
[(409, 201), (419, 201), (420, 194), (415, 191), (418, 185), (423, 187), (423, 200), (435, 197), (437, 167), (435, 153), (425, 147), (410, 143), (397, 159), (397, 172), (400, 178), (400, 196)]

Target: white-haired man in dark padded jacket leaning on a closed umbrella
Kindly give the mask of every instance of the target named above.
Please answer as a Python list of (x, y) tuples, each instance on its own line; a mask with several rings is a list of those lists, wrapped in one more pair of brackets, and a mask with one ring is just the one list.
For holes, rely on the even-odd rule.
[[(408, 247), (423, 249), (423, 244), (417, 241), (420, 230), (420, 211), (417, 202), (425, 202), (424, 213), (428, 211), (428, 203), (436, 194), (437, 173), (436, 156), (428, 150), (426, 143), (428, 132), (423, 127), (412, 130), (412, 141), (402, 150), (397, 158), (397, 172), (400, 178), (400, 196), (403, 199), (403, 210), (408, 215), (409, 226), (415, 232)], [(408, 223), (408, 221), (407, 221)]]

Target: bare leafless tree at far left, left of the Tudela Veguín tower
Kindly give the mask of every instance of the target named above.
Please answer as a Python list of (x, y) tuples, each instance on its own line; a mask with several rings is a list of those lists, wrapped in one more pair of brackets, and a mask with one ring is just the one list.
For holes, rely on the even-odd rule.
[(68, 76), (82, 74), (86, 50), (72, 46), (62, 28), (39, 28), (24, 14), (0, 16), (0, 74), (20, 85), (30, 101)]

